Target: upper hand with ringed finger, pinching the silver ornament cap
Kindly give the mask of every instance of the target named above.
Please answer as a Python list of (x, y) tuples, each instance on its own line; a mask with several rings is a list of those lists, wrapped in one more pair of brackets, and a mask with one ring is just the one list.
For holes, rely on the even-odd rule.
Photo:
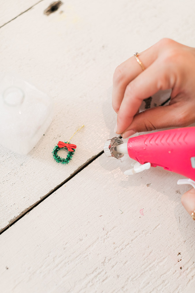
[[(118, 114), (115, 132), (126, 138), (135, 132), (194, 123), (195, 48), (162, 39), (138, 58), (144, 71), (133, 56), (114, 72), (112, 105)], [(165, 89), (172, 89), (169, 105), (138, 113), (145, 98)]]

